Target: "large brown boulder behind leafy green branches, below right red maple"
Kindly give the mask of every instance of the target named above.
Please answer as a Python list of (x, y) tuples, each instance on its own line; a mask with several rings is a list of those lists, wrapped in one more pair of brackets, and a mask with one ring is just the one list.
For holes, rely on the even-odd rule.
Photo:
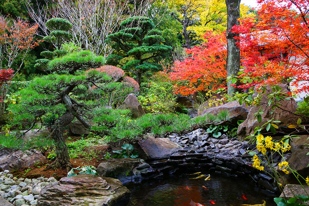
[[(283, 89), (282, 92), (288, 91), (285, 84), (280, 84), (279, 86)], [(268, 102), (267, 97), (269, 93), (271, 92), (272, 92), (271, 86), (267, 86), (266, 92), (263, 95), (261, 101)], [(283, 99), (280, 101), (280, 104), (284, 110), (277, 109), (273, 111), (271, 107), (266, 107), (267, 105), (266, 106), (265, 105), (252, 106), (248, 113), (248, 118), (245, 121), (243, 121), (238, 127), (238, 130), (237, 130), (238, 140), (243, 141), (244, 138), (248, 137), (250, 134), (254, 132), (254, 129), (256, 127), (261, 127), (263, 124), (265, 124), (269, 120), (273, 119), (273, 120), (281, 121), (279, 126), (281, 126), (281, 129), (284, 129), (284, 127), (282, 126), (292, 124), (291, 120), (298, 119), (292, 114), (293, 112), (297, 111), (296, 108), (298, 107), (294, 99), (292, 100)], [(263, 111), (263, 113), (261, 114), (262, 121), (258, 122), (254, 114), (259, 111), (260, 107), (261, 107), (261, 111)]]

